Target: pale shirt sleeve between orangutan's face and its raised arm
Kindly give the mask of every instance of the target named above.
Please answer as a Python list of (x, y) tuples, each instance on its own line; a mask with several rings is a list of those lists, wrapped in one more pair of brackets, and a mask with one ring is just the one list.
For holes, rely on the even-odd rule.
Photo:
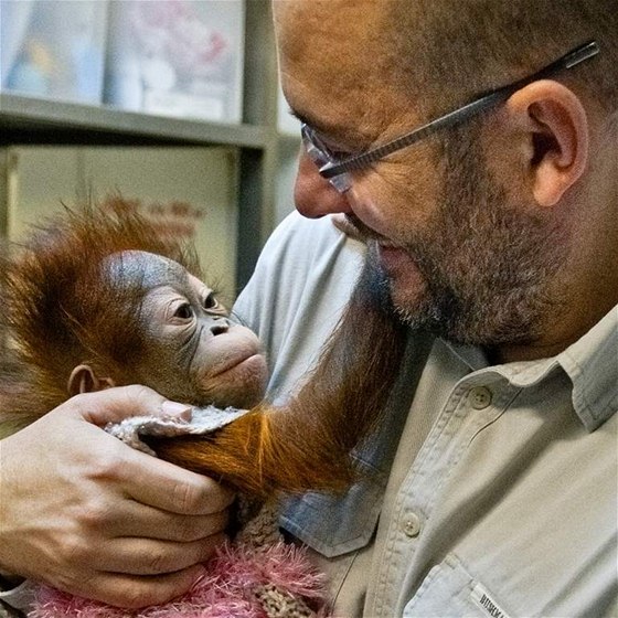
[(364, 245), (330, 217), (292, 213), (277, 227), (239, 295), (233, 317), (253, 329), (268, 358), (268, 396), (287, 398), (334, 330), (364, 259)]

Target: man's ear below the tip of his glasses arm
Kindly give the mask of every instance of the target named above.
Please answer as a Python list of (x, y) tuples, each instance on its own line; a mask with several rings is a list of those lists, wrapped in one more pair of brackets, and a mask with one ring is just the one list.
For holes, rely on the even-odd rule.
[(550, 79), (521, 88), (507, 107), (530, 136), (526, 156), (534, 199), (541, 206), (553, 206), (586, 168), (586, 110), (573, 90)]

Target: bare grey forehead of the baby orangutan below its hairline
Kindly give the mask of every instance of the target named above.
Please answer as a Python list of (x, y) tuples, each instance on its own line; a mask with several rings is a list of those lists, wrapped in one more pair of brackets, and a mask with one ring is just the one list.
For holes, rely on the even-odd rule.
[(113, 283), (143, 289), (178, 284), (187, 278), (185, 269), (178, 262), (142, 251), (110, 255), (104, 268)]

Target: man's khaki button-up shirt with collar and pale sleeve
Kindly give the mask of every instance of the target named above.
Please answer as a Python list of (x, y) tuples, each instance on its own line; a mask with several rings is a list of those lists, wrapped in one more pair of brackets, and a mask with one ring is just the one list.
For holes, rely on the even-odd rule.
[[(327, 219), (291, 215), (270, 241), (236, 310), (264, 338), (280, 398), (361, 260)], [(384, 487), (334, 505), (309, 496), (283, 518), (329, 556), (315, 552), (337, 615), (618, 616), (618, 308), (534, 362), (488, 366), (477, 349), (412, 342), (412, 403), (402, 396), (398, 433), (372, 460), (384, 451)]]

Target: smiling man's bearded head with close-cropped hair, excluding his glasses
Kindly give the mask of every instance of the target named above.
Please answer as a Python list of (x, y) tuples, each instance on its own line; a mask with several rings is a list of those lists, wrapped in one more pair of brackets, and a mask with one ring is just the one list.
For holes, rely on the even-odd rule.
[(618, 257), (618, 18), (610, 4), (275, 2), (290, 107), (338, 159), (585, 41), (599, 44), (594, 58), (352, 172), (344, 194), (301, 157), (299, 210), (360, 222), (412, 324), (456, 341), (551, 352), (618, 301), (611, 277), (597, 289), (598, 273)]

